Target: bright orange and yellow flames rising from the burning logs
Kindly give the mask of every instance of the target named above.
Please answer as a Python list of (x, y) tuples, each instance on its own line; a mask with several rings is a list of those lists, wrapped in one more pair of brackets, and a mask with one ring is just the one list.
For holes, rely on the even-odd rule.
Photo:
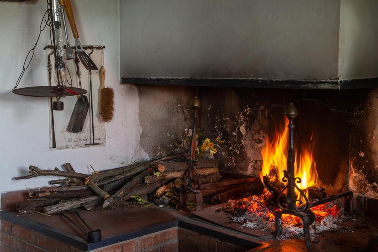
[[(262, 155), (262, 170), (260, 172), (260, 179), (263, 182), (263, 176), (269, 175), (273, 168), (275, 168), (276, 175), (273, 179), (282, 181), (283, 171), (287, 170), (287, 149), (289, 141), (289, 129), (287, 125), (289, 120), (285, 117), (285, 124), (280, 127), (276, 126), (276, 132), (272, 140), (266, 138), (265, 148), (261, 150)], [(297, 152), (294, 153), (294, 173), (295, 177), (300, 177), (302, 182), (297, 184), (299, 188), (304, 190), (308, 197), (308, 192), (305, 190), (308, 187), (316, 185), (318, 179), (318, 172), (316, 171), (316, 163), (313, 159), (313, 152), (310, 146), (313, 136), (311, 135), (308, 147), (302, 146), (300, 156)], [(272, 179), (272, 177), (270, 178)], [(297, 199), (304, 199), (300, 196), (297, 190)]]

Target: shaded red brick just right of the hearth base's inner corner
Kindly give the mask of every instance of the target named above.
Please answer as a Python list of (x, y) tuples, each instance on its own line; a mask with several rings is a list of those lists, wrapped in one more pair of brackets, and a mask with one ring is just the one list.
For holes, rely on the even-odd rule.
[(217, 240), (215, 238), (200, 235), (199, 233), (191, 232), (186, 229), (178, 229), (178, 240), (203, 247), (210, 251), (217, 251)]

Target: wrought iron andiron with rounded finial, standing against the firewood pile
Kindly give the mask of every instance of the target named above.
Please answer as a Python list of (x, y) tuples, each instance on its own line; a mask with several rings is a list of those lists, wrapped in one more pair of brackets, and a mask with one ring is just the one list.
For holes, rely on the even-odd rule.
[[(195, 208), (196, 210), (202, 209), (202, 193), (200, 191), (201, 187), (201, 178), (197, 172), (197, 169), (194, 168), (196, 164), (195, 160), (195, 151), (197, 149), (197, 123), (198, 123), (198, 112), (201, 107), (201, 101), (197, 96), (193, 98), (190, 103), (191, 108), (193, 109), (193, 123), (192, 123), (192, 136), (189, 145), (189, 151), (186, 154), (188, 168), (182, 175), (183, 184), (187, 183), (186, 187), (180, 188), (180, 209), (185, 208), (186, 205), (186, 195), (188, 192), (194, 193), (195, 196)], [(197, 180), (194, 178), (197, 177)], [(185, 183), (186, 182), (186, 183)], [(197, 183), (196, 183), (197, 182)]]

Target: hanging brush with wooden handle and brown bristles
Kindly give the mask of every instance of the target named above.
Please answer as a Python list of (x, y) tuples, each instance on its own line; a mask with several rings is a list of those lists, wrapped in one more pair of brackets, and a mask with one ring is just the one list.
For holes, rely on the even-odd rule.
[(105, 122), (112, 121), (114, 114), (114, 90), (105, 87), (105, 68), (100, 68), (100, 87), (98, 89), (99, 114)]

